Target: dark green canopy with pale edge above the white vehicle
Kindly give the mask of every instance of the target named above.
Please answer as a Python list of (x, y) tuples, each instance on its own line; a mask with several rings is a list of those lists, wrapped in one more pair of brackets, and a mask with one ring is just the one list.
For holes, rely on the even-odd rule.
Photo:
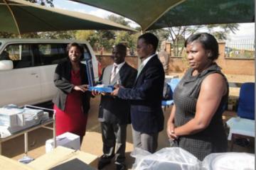
[(0, 31), (133, 30), (85, 13), (60, 10), (23, 0), (0, 0)]

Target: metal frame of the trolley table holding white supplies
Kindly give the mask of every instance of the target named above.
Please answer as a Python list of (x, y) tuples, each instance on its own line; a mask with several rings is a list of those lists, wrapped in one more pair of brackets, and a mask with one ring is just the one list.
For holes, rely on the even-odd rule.
[[(43, 109), (44, 111), (53, 111), (53, 109), (49, 109), (49, 108), (41, 108), (41, 107), (37, 107), (37, 106), (29, 106), (26, 105), (25, 108), (36, 108), (36, 109)], [(50, 125), (51, 123), (53, 123), (53, 128), (48, 127), (47, 125)], [(38, 128), (46, 128), (46, 129), (50, 129), (53, 130), (53, 147), (56, 147), (56, 136), (55, 136), (55, 111), (53, 111), (53, 118), (49, 118), (48, 120), (44, 120), (43, 122), (37, 124), (37, 125), (33, 125), (29, 128), (26, 128), (24, 130), (18, 131), (13, 133), (12, 135), (8, 136), (8, 137), (3, 137), (0, 138), (0, 154), (1, 153), (1, 143), (5, 142), (7, 140), (11, 140), (14, 137), (17, 137), (19, 135), (24, 135), (24, 153), (27, 155), (28, 154), (28, 132), (31, 132), (33, 130), (37, 130)]]

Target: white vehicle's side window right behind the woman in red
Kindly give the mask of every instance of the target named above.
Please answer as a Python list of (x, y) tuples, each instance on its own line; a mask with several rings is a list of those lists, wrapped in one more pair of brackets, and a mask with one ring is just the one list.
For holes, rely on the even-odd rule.
[(60, 43), (38, 44), (38, 51), (43, 65), (58, 64), (68, 57), (65, 52), (65, 45)]

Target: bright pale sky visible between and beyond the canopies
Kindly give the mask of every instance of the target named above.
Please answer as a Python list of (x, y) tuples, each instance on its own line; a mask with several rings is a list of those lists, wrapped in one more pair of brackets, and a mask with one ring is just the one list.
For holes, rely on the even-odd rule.
[[(109, 11), (105, 11), (100, 8), (95, 8), (92, 6), (87, 6), (84, 4), (79, 4), (74, 1), (67, 0), (53, 0), (55, 8), (62, 8), (70, 11), (77, 11), (82, 13), (91, 14), (93, 16), (98, 16), (100, 18), (107, 18), (107, 16), (113, 14)], [(131, 21), (127, 19), (127, 21)], [(131, 21), (130, 26), (137, 27), (137, 23)], [(255, 38), (255, 23), (240, 23), (239, 30), (235, 34), (230, 33), (228, 35), (228, 40), (245, 40), (245, 39), (254, 39)]]

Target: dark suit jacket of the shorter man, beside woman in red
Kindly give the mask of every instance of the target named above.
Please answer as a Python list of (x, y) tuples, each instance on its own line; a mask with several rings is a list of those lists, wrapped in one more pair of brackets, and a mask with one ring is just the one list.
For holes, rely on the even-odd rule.
[[(125, 62), (121, 69), (119, 69), (119, 72), (116, 74), (112, 82), (110, 82), (112, 68), (113, 64), (107, 66), (103, 70), (102, 77), (100, 78), (102, 84), (114, 85), (117, 84), (117, 81), (119, 80), (120, 85), (127, 88), (132, 88), (137, 76), (137, 70)], [(108, 95), (101, 96), (98, 117), (101, 122), (119, 123), (120, 125), (127, 124), (130, 123), (129, 113), (129, 101)]]

